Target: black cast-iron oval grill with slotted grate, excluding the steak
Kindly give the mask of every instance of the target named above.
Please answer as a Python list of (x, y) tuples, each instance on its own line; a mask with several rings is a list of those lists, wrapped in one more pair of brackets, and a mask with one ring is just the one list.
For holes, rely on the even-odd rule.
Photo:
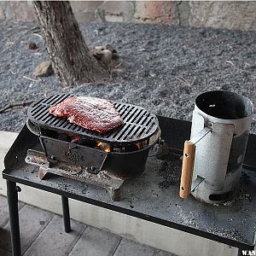
[[(27, 127), (38, 135), (50, 166), (55, 166), (55, 163), (62, 161), (83, 166), (86, 172), (92, 174), (106, 171), (108, 175), (123, 180), (140, 175), (145, 169), (149, 149), (160, 138), (160, 127), (156, 116), (144, 108), (114, 103), (124, 120), (124, 125), (105, 134), (99, 134), (71, 124), (66, 118), (58, 118), (49, 113), (51, 106), (62, 102), (68, 96), (70, 95), (49, 96), (34, 102), (28, 108)], [(49, 131), (54, 132), (55, 135), (67, 133), (79, 136), (80, 141), (84, 139), (87, 142), (108, 143), (111, 148), (127, 148), (141, 142), (147, 142), (147, 145), (130, 152), (105, 152), (77, 142), (61, 140), (57, 136), (51, 137)]]

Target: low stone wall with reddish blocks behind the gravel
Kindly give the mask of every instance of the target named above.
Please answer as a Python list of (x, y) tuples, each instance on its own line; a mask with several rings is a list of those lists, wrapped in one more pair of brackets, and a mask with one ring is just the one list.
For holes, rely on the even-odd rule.
[[(256, 2), (72, 2), (80, 22), (119, 21), (256, 31)], [(31, 1), (0, 2), (0, 20), (36, 20)]]

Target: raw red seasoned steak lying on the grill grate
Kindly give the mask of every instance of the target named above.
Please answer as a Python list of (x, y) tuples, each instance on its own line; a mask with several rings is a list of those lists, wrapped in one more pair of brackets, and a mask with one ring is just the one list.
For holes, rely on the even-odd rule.
[(49, 113), (57, 117), (66, 117), (71, 123), (100, 133), (124, 123), (112, 102), (96, 97), (72, 96), (50, 107)]

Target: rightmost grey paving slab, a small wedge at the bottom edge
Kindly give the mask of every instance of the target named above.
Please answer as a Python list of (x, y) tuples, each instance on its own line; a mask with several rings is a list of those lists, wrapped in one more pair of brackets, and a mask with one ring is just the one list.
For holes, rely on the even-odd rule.
[(153, 247), (147, 247), (123, 238), (113, 256), (153, 256), (156, 253), (157, 250)]

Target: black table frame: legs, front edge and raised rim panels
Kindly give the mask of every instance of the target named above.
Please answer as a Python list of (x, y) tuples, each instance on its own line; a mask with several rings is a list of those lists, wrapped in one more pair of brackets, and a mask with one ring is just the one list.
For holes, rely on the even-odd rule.
[[(181, 154), (183, 151), (183, 142), (189, 138), (190, 127), (191, 123), (188, 121), (183, 121), (179, 119), (171, 119), (166, 118), (163, 116), (158, 116), (160, 121), (160, 128), (162, 131), (162, 137), (165, 139), (166, 143), (168, 144), (170, 150), (173, 153)], [(21, 134), (23, 132), (23, 135)], [(9, 203), (9, 219), (10, 219), (10, 232), (11, 232), (11, 241), (12, 241), (12, 253), (14, 256), (20, 256), (20, 225), (19, 225), (19, 212), (18, 212), (18, 192), (20, 192), (20, 188), (16, 185), (16, 183), (22, 183), (27, 186), (31, 186), (37, 189), (43, 189), (45, 191), (49, 191), (56, 195), (61, 195), (62, 201), (62, 210), (63, 210), (63, 219), (64, 219), (64, 227), (66, 232), (71, 231), (70, 227), (70, 216), (69, 216), (69, 207), (68, 207), (68, 198), (73, 198), (78, 201), (84, 201), (99, 207), (108, 208), (116, 212), (122, 212), (137, 218), (146, 219), (150, 222), (162, 224), (168, 227), (171, 227), (176, 230), (183, 230), (184, 232), (188, 232), (194, 234), (196, 236), (205, 237), (207, 239), (211, 239), (212, 241), (222, 242), (224, 244), (230, 245), (232, 247), (238, 247), (238, 255), (242, 255), (242, 250), (253, 250), (254, 244), (245, 244), (239, 243), (237, 241), (232, 241), (228, 238), (221, 237), (221, 236), (214, 236), (210, 233), (196, 230), (196, 229), (189, 229), (187, 226), (182, 224), (175, 224), (170, 223), (168, 225), (165, 224), (164, 221), (160, 221), (154, 216), (143, 216), (143, 214), (138, 214), (138, 212), (133, 212), (132, 210), (122, 209), (120, 207), (111, 206), (110, 204), (106, 204), (102, 201), (91, 201), (87, 199), (85, 196), (82, 197), (80, 195), (74, 195), (70, 192), (63, 191), (61, 189), (54, 189), (50, 186), (45, 186), (38, 183), (32, 183), (26, 178), (23, 177), (14, 177), (7, 172), (9, 168), (9, 160), (14, 155), (18, 157), (20, 148), (29, 148), (30, 140), (27, 139), (20, 145), (20, 138), (21, 136), (29, 137), (30, 131), (27, 130), (26, 125), (23, 127), (20, 135), (16, 138), (15, 143), (13, 144), (12, 148), (9, 149), (9, 153), (5, 157), (5, 170), (3, 171), (3, 178), (7, 180), (7, 196), (8, 196), (8, 203)], [(170, 136), (172, 135), (172, 136)], [(24, 143), (26, 145), (24, 145)], [(248, 144), (247, 144), (247, 153), (244, 161), (244, 168), (247, 170), (256, 172), (256, 136), (250, 134)]]

